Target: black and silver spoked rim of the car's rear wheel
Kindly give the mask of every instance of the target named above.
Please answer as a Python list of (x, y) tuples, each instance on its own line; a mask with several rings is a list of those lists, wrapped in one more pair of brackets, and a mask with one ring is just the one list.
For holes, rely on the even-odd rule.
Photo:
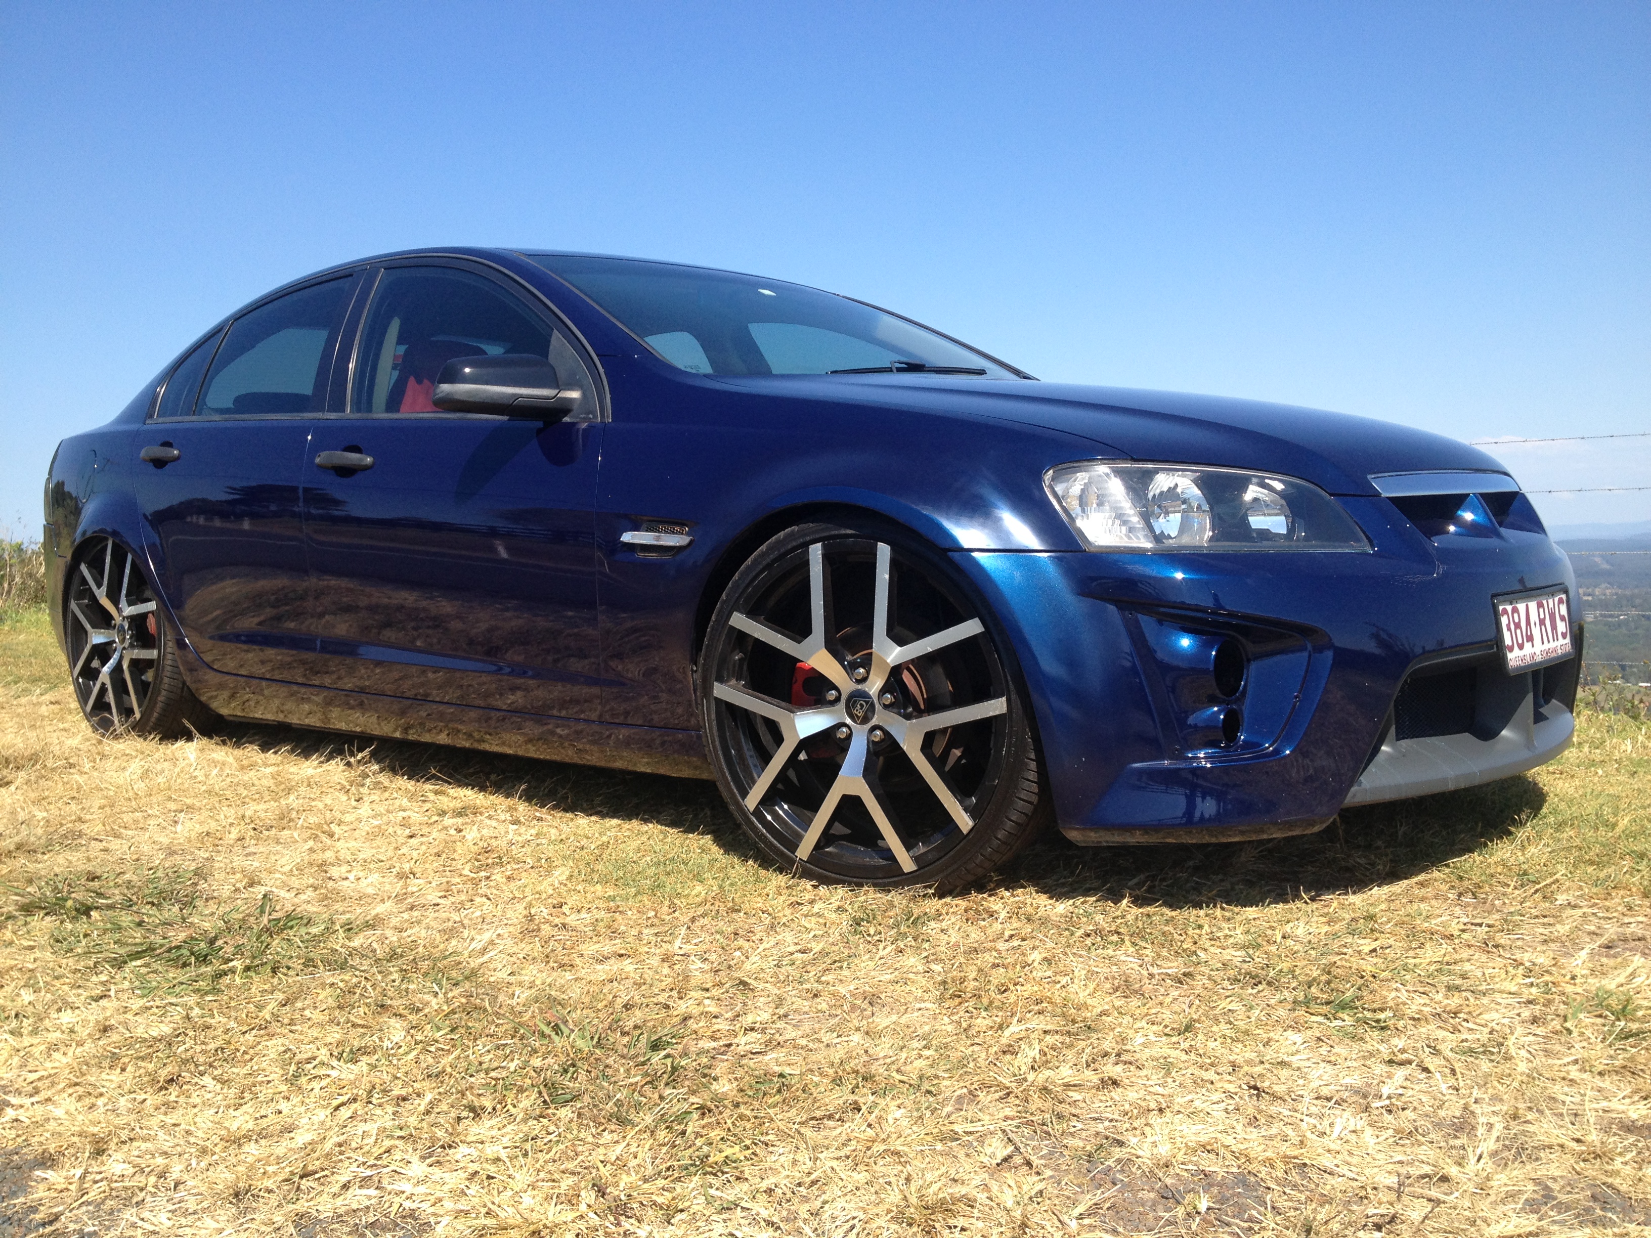
[(132, 726), (160, 660), (155, 594), (132, 555), (111, 538), (88, 546), (69, 576), (69, 677), (99, 731)]

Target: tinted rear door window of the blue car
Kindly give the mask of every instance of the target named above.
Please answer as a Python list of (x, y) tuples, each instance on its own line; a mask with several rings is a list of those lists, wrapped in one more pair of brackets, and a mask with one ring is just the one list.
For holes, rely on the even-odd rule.
[(289, 292), (231, 322), (206, 375), (200, 416), (324, 411), (332, 370), (327, 340), (352, 282), (332, 279)]

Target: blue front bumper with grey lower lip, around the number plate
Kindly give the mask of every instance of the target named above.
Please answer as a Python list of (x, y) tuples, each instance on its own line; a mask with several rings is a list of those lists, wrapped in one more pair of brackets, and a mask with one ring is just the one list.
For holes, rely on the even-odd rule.
[[(1526, 533), (1435, 541), (1387, 500), (1341, 502), (1372, 553), (956, 556), (1015, 649), (1070, 839), (1303, 834), (1344, 804), (1507, 777), (1563, 749), (1568, 702), (1501, 670), (1491, 607), (1563, 584), (1577, 612), (1563, 553)], [(1199, 730), (1176, 665), (1179, 645), (1222, 639), (1251, 655), (1225, 743)], [(1488, 667), (1502, 713), (1489, 731), (1476, 718), (1469, 735), (1400, 736), (1400, 688), (1441, 662)]]

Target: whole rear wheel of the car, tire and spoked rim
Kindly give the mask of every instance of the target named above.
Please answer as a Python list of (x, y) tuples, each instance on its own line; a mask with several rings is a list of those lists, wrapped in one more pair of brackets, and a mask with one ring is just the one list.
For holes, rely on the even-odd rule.
[(94, 731), (177, 738), (216, 721), (183, 682), (149, 576), (119, 541), (76, 550), (63, 607), (69, 680)]

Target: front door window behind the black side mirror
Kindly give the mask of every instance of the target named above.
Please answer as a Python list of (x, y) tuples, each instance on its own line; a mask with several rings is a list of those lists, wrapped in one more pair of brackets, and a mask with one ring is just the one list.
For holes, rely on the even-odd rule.
[(598, 414), (596, 383), (563, 333), (489, 279), (452, 267), (390, 267), (367, 310), (355, 361), (355, 413), (439, 413), (431, 395), (447, 361), (543, 357), (580, 391), (568, 419)]

